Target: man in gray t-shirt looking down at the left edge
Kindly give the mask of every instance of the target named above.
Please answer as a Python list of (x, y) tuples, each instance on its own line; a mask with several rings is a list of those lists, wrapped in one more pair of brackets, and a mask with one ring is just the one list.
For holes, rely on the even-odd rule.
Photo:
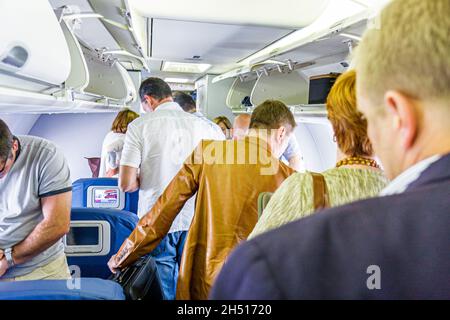
[(0, 281), (70, 277), (67, 161), (45, 139), (15, 137), (0, 119)]

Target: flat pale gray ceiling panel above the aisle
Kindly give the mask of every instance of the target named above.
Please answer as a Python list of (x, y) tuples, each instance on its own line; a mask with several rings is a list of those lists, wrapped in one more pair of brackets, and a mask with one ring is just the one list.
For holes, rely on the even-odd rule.
[(235, 63), (293, 30), (165, 19), (153, 20), (152, 58), (198, 61), (212, 65)]

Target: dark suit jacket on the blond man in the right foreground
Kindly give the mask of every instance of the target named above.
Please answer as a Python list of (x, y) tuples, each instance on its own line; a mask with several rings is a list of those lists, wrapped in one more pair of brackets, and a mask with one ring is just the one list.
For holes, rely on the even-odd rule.
[[(249, 241), (230, 264), (259, 248), (290, 299), (448, 298), (448, 234), (446, 183), (315, 213)], [(374, 267), (380, 290), (368, 288)]]

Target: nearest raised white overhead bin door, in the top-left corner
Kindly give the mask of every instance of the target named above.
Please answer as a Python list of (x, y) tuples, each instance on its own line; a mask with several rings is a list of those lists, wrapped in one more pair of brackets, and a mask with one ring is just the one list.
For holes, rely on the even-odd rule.
[[(47, 0), (2, 1), (0, 20), (0, 86), (5, 75), (59, 86), (71, 69), (69, 48)], [(33, 21), (30, 24), (24, 21)], [(11, 32), (6, 30), (10, 30)]]

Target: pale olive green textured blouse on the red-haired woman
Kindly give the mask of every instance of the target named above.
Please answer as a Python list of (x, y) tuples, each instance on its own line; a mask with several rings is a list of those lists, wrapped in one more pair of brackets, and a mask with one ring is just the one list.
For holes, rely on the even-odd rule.
[[(330, 206), (340, 206), (374, 197), (387, 185), (383, 173), (372, 169), (333, 168), (322, 173), (328, 187)], [(287, 178), (270, 199), (249, 239), (314, 212), (310, 173)]]

